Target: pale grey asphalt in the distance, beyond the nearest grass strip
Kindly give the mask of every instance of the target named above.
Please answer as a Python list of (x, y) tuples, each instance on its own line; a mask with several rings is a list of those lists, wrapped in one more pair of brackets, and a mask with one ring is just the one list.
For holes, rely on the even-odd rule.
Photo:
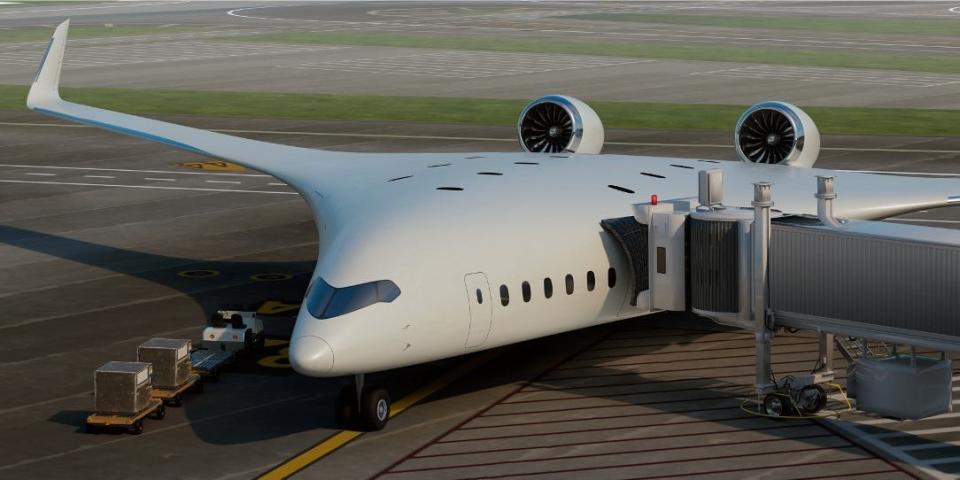
[[(565, 18), (583, 13), (803, 15), (822, 2), (775, 4), (469, 3), (259, 5), (226, 2), (129, 2), (4, 7), (0, 28), (75, 25), (194, 25), (215, 31), (71, 41), (64, 82), (71, 86), (262, 90), (357, 95), (526, 98), (545, 93), (592, 100), (752, 104), (777, 98), (800, 105), (960, 108), (960, 75), (764, 66), (745, 63), (467, 52), (395, 47), (330, 48), (230, 41), (271, 32), (418, 32), (503, 39), (604, 38), (633, 44), (791, 46), (824, 53), (949, 55), (958, 37), (895, 33), (738, 30), (709, 26), (602, 22)], [(840, 17), (960, 21), (942, 2), (858, 2), (829, 5)], [(21, 13), (22, 12), (22, 13)], [(831, 13), (832, 14), (832, 13)], [(214, 40), (215, 37), (217, 38)], [(0, 83), (32, 78), (44, 42), (0, 45)]]

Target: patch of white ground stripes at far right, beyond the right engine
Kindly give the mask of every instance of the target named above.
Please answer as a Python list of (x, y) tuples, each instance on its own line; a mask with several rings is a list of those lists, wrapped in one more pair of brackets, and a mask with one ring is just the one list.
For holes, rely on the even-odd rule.
[(942, 87), (960, 83), (957, 75), (933, 75), (886, 70), (791, 67), (787, 65), (756, 65), (725, 68), (690, 75), (752, 79), (798, 80), (806, 82), (841, 82), (856, 85), (873, 84), (895, 87)]

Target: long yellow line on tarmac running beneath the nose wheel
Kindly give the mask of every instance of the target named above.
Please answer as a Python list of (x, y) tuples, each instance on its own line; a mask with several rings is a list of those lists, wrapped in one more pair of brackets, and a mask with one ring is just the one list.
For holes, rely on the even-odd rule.
[[(470, 359), (470, 361), (464, 363), (463, 365), (460, 365), (458, 368), (450, 370), (447, 373), (437, 377), (436, 380), (418, 388), (416, 391), (407, 395), (406, 397), (397, 400), (390, 407), (390, 418), (399, 415), (404, 410), (414, 406), (417, 402), (427, 398), (443, 387), (453, 383), (458, 378), (463, 377), (467, 373), (489, 362), (497, 355), (499, 355), (499, 351), (487, 351), (483, 354), (480, 354)], [(363, 435), (363, 432), (343, 430), (336, 435), (316, 444), (309, 450), (291, 458), (290, 460), (287, 460), (284, 463), (281, 463), (273, 470), (261, 475), (259, 480), (282, 480), (288, 478), (300, 470), (307, 468), (321, 458), (333, 453), (338, 448), (350, 443), (360, 435)]]

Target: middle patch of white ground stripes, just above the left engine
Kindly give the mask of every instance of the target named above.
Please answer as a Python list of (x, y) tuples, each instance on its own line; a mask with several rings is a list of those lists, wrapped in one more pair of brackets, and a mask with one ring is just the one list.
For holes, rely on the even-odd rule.
[(278, 67), (471, 79), (581, 70), (652, 61), (654, 60), (580, 55), (449, 51), (393, 57), (351, 58), (299, 65), (278, 65)]

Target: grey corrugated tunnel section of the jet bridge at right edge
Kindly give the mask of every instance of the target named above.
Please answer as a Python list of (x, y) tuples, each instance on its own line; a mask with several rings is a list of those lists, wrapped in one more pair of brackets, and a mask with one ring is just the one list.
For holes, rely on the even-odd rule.
[(769, 254), (777, 324), (960, 350), (960, 231), (785, 217)]

